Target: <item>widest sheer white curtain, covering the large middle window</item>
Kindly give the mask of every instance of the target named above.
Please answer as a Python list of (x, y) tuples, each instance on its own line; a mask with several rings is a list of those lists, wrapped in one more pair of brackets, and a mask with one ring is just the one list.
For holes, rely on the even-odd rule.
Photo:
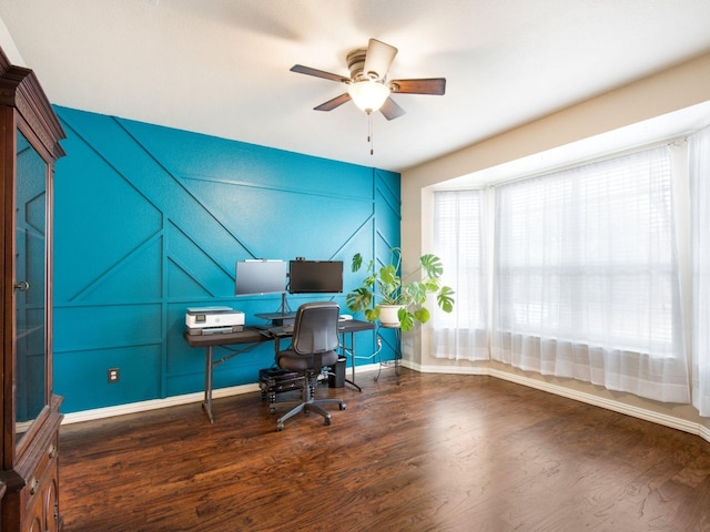
[(491, 357), (690, 401), (666, 147), (496, 190)]

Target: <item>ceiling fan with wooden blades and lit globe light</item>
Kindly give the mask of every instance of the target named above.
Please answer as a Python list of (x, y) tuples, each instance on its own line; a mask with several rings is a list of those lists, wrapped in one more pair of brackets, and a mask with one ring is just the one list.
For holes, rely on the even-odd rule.
[(367, 49), (353, 50), (347, 54), (349, 78), (302, 64), (294, 64), (291, 71), (338, 81), (347, 85), (347, 92), (314, 108), (315, 111), (333, 111), (353, 100), (367, 114), (379, 111), (387, 120), (394, 120), (405, 114), (405, 110), (389, 98), (390, 94), (443, 95), (446, 91), (445, 78), (387, 81), (387, 71), (396, 54), (395, 47), (371, 39)]

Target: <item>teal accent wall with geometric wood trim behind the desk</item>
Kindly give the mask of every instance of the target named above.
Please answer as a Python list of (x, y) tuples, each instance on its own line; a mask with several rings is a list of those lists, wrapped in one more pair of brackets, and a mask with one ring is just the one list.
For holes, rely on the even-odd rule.
[[(185, 309), (226, 305), (256, 325), (255, 313), (281, 305), (234, 297), (236, 260), (343, 260), (347, 293), (362, 280), (349, 272), (356, 252), (386, 257), (399, 245), (397, 173), (54, 109), (68, 135), (55, 172), (53, 368), (67, 413), (202, 391), (204, 351), (182, 337)], [(326, 298), (348, 313), (345, 293)], [(374, 349), (373, 332), (356, 340), (358, 355)], [(272, 362), (264, 342), (217, 366), (214, 387), (256, 382)]]

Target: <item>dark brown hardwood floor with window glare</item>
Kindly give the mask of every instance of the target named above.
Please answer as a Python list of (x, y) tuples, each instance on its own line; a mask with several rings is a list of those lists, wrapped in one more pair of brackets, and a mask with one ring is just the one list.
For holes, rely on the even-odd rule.
[(63, 426), (65, 532), (709, 531), (710, 443), (490, 377), (361, 374), (333, 424), (260, 393)]

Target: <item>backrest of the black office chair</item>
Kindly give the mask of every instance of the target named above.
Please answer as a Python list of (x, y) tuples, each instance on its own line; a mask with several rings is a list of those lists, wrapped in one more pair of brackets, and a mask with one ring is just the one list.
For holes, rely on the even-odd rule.
[(304, 303), (296, 311), (292, 346), (298, 355), (333, 351), (339, 345), (341, 307), (334, 301)]

